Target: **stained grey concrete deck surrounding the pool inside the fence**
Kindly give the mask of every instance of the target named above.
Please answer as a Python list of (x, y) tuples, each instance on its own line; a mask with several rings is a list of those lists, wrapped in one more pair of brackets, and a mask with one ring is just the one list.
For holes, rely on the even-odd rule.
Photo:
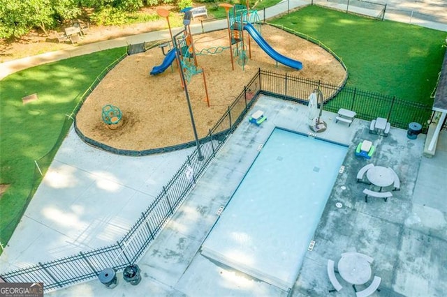
[[(260, 127), (243, 121), (230, 135), (217, 158), (196, 184), (173, 220), (138, 262), (142, 282), (131, 286), (117, 273), (119, 284), (107, 289), (98, 280), (60, 289), (48, 296), (326, 296), (332, 289), (326, 275), (328, 259), (357, 251), (374, 258), (374, 275), (382, 278), (375, 296), (443, 296), (447, 292), (447, 140), (443, 131), (437, 154), (423, 157), (425, 135), (408, 139), (406, 130), (391, 128), (388, 137), (369, 135), (369, 123), (356, 119), (351, 127), (335, 123), (335, 114), (324, 112), (328, 130), (318, 137), (350, 144), (314, 235), (315, 246), (307, 252), (298, 280), (290, 292), (244, 275), (200, 254), (200, 245), (245, 172), (275, 127), (307, 133), (307, 107), (263, 97), (253, 111), (268, 117)], [(377, 147), (370, 160), (393, 167), (401, 190), (388, 199), (369, 199), (365, 184), (356, 182), (358, 160), (353, 151), (361, 139)], [(297, 176), (297, 181), (300, 177)], [(342, 188), (346, 187), (346, 188)], [(343, 190), (344, 189), (344, 190)], [(444, 200), (443, 200), (444, 199)], [(343, 204), (335, 207), (336, 202)], [(335, 296), (355, 296), (350, 285)]]

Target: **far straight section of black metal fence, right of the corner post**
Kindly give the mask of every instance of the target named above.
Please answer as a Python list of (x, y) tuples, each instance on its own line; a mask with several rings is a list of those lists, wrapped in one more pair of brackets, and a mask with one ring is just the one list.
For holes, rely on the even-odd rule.
[(386, 118), (396, 128), (407, 129), (409, 123), (423, 125), (427, 132), (432, 107), (418, 102), (401, 100), (393, 96), (362, 91), (349, 86), (337, 86), (323, 82), (293, 77), (286, 73), (259, 70), (261, 93), (307, 104), (309, 94), (320, 89), (325, 98), (324, 110), (337, 112), (339, 108), (351, 109), (359, 119), (371, 121)]

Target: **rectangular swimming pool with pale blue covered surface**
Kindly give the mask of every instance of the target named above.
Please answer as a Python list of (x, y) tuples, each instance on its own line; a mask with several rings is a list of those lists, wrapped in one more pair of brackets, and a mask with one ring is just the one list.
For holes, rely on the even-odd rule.
[(276, 128), (202, 245), (202, 254), (290, 289), (347, 146)]

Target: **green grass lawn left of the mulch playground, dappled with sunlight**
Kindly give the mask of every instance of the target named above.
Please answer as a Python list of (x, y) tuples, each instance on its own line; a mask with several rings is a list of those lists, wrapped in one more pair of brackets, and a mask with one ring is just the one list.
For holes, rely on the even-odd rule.
[[(0, 199), (3, 245), (19, 222), (32, 188), (34, 160), (50, 151), (66, 114), (104, 68), (124, 53), (121, 47), (78, 56), (22, 70), (0, 81), (0, 183), (10, 185)], [(23, 105), (22, 97), (31, 93), (37, 93), (38, 100)]]

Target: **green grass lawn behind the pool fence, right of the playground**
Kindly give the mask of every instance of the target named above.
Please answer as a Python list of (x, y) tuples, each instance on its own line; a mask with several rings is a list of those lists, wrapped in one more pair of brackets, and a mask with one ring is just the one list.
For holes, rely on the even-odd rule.
[[(272, 23), (305, 33), (333, 50), (348, 86), (432, 104), (446, 32), (307, 6)], [(304, 66), (305, 67), (305, 66)]]

